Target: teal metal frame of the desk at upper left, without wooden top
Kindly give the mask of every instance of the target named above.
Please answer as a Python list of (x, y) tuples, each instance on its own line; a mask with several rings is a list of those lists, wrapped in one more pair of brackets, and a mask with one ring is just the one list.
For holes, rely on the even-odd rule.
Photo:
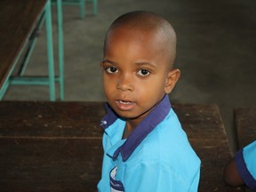
[[(62, 32), (62, 2), (57, 0), (57, 17), (58, 17), (58, 56), (59, 56), (59, 76), (55, 76), (54, 73), (54, 60), (53, 60), (53, 42), (52, 42), (52, 11), (51, 11), (51, 0), (47, 0), (45, 4), (45, 28), (46, 28), (46, 39), (47, 39), (47, 55), (48, 55), (48, 76), (39, 77), (26, 77), (23, 76), (24, 68), (21, 71), (21, 76), (13, 76), (12, 72), (15, 68), (20, 54), (14, 60), (14, 64), (0, 89), (0, 100), (3, 99), (4, 93), (11, 84), (28, 84), (28, 85), (48, 85), (50, 92), (50, 100), (56, 100), (55, 96), (55, 82), (60, 84), (60, 100), (64, 100), (64, 51), (63, 51), (63, 32)], [(35, 43), (36, 44), (36, 43)], [(33, 44), (33, 46), (35, 45)], [(26, 68), (26, 67), (25, 67)]]

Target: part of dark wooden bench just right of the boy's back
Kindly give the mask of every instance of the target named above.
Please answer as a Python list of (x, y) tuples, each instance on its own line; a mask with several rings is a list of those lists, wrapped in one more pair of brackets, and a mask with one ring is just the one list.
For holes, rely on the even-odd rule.
[(202, 161), (199, 191), (240, 191), (240, 188), (229, 189), (222, 179), (231, 152), (219, 108), (189, 104), (172, 107)]

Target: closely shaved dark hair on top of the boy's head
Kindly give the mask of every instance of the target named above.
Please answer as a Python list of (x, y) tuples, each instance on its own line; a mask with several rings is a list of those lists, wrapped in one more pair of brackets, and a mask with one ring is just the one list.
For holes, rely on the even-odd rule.
[[(176, 56), (176, 34), (172, 25), (164, 17), (146, 11), (128, 12), (118, 17), (108, 28), (105, 44), (108, 35), (118, 28), (127, 28), (132, 31), (154, 33), (160, 39), (159, 47), (166, 57), (168, 66), (171, 69)], [(104, 46), (105, 49), (105, 46)]]

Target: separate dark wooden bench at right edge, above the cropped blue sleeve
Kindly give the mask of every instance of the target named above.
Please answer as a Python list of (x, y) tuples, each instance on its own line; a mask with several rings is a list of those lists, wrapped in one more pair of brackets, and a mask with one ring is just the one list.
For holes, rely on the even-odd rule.
[[(235, 108), (234, 109), (237, 146), (244, 148), (256, 140), (256, 108)], [(252, 191), (245, 188), (246, 192)]]

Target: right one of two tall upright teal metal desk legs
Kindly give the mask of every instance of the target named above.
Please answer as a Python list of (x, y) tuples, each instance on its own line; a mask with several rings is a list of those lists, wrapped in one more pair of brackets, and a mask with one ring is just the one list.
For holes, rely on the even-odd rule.
[(64, 49), (63, 49), (63, 20), (62, 20), (62, 0), (57, 1), (58, 20), (58, 48), (59, 48), (59, 84), (60, 100), (64, 100)]

